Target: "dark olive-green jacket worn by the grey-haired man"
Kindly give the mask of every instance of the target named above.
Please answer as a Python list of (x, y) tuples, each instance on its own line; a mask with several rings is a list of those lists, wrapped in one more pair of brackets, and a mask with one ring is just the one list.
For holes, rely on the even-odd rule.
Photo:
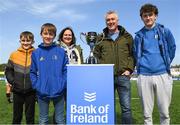
[(105, 38), (96, 45), (94, 55), (101, 64), (114, 64), (114, 75), (121, 75), (128, 70), (134, 70), (134, 59), (132, 53), (133, 38), (122, 27), (118, 26), (119, 35), (115, 41), (108, 37), (108, 28), (103, 32)]

